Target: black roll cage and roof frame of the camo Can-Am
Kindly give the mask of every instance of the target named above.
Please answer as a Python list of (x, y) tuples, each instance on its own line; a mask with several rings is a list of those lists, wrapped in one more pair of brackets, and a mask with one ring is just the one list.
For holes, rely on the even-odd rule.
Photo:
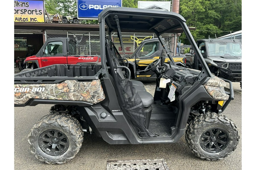
[[(150, 13), (150, 17), (148, 16), (148, 14)], [(138, 31), (142, 31), (142, 32), (153, 32), (157, 35), (158, 39), (160, 40), (160, 43), (162, 44), (162, 46), (166, 49), (168, 57), (170, 59), (170, 61), (172, 61), (173, 65), (175, 65), (174, 60), (172, 59), (172, 56), (170, 55), (170, 52), (168, 51), (168, 49), (166, 48), (164, 41), (159, 38), (161, 34), (166, 33), (166, 32), (170, 32), (174, 29), (179, 29), (182, 28), (184, 33), (186, 34), (187, 38), (189, 39), (189, 42), (191, 43), (191, 46), (193, 49), (195, 49), (195, 53), (197, 54), (197, 56), (199, 56), (199, 61), (202, 63), (202, 71), (201, 73), (198, 75), (199, 78), (197, 78), (196, 81), (202, 80), (205, 77), (212, 77), (210, 70), (208, 68), (208, 66), (206, 65), (203, 56), (201, 55), (201, 53), (199, 52), (199, 49), (197, 48), (197, 45), (186, 25), (186, 20), (179, 14), (175, 13), (175, 12), (167, 12), (167, 11), (154, 11), (154, 10), (145, 10), (145, 9), (139, 9), (139, 8), (125, 8), (125, 7), (118, 7), (118, 8), (106, 8), (104, 11), (102, 11), (99, 15), (99, 24), (100, 24), (100, 35), (105, 35), (105, 25), (107, 27), (107, 32), (108, 34), (110, 34), (112, 31), (117, 30), (116, 27), (116, 23), (115, 23), (115, 15), (118, 16), (119, 20), (122, 21), (123, 23), (129, 23), (129, 22), (133, 22), (130, 18), (135, 18), (135, 17), (139, 17), (140, 20), (137, 18), (136, 23), (137, 25), (139, 25), (138, 23), (140, 22), (146, 22), (146, 19), (150, 18), (148, 20), (148, 25), (151, 24), (150, 20), (152, 20), (153, 25), (150, 25), (151, 27), (149, 28), (148, 25), (144, 24), (145, 26), (137, 26), (136, 24), (134, 25), (129, 25), (129, 24), (120, 24), (120, 29), (124, 29), (125, 31), (130, 31), (130, 32), (138, 32)], [(127, 18), (127, 16), (129, 16), (129, 18)], [(174, 22), (176, 22), (176, 24), (174, 24), (174, 26), (170, 26), (167, 29), (164, 29), (163, 31), (157, 31), (156, 26), (159, 24), (166, 24), (166, 19), (169, 19), (171, 21), (174, 20)], [(107, 20), (107, 22), (106, 22)], [(169, 21), (168, 20), (168, 21)], [(158, 22), (156, 22), (158, 21)], [(176, 26), (177, 25), (177, 26)], [(137, 28), (133, 28), (137, 26)], [(110, 42), (110, 37), (109, 37), (109, 42)], [(105, 36), (100, 36), (100, 45), (102, 47), (105, 47)], [(101, 56), (106, 56), (106, 50), (105, 48), (101, 49), (100, 52)], [(105, 77), (109, 77), (108, 74), (108, 68), (106, 65), (106, 60), (102, 59), (101, 60), (101, 64), (102, 64), (102, 73), (104, 74), (103, 76)], [(200, 81), (199, 81), (200, 82)]]

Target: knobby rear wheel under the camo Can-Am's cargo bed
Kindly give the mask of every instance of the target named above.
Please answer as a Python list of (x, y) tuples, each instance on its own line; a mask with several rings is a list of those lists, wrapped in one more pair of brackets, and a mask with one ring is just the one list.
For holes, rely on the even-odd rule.
[(49, 164), (68, 162), (82, 146), (83, 131), (80, 123), (68, 114), (48, 114), (30, 130), (30, 151), (40, 161)]

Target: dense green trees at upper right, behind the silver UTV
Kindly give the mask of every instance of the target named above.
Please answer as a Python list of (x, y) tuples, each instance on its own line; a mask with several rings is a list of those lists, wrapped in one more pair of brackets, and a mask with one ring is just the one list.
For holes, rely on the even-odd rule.
[[(195, 40), (215, 38), (242, 29), (241, 0), (180, 0), (180, 14)], [(180, 37), (188, 44), (185, 35)]]

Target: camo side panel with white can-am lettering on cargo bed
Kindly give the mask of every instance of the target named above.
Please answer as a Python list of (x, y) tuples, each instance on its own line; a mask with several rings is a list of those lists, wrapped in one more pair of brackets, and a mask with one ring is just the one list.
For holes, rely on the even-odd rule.
[[(73, 100), (94, 104), (105, 99), (99, 79), (88, 82), (65, 80), (59, 84), (14, 84), (14, 89), (14, 104), (17, 105), (25, 104), (29, 99)], [(40, 90), (36, 92), (32, 89)]]

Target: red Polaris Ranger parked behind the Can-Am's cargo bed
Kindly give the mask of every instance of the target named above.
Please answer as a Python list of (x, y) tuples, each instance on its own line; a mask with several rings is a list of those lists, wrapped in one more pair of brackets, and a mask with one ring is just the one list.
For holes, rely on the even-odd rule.
[(96, 64), (100, 56), (79, 55), (84, 53), (71, 38), (51, 38), (46, 40), (39, 52), (24, 60), (23, 71), (53, 64)]

